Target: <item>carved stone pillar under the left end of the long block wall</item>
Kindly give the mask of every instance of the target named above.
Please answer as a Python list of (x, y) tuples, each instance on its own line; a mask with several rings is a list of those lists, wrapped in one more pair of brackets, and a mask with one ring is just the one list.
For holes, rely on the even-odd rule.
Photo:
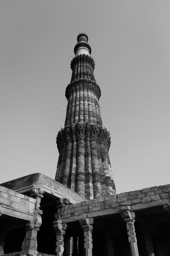
[(57, 218), (56, 221), (53, 222), (54, 231), (56, 233), (56, 255), (63, 256), (64, 254), (64, 236), (66, 233), (67, 225), (62, 223), (60, 218)]

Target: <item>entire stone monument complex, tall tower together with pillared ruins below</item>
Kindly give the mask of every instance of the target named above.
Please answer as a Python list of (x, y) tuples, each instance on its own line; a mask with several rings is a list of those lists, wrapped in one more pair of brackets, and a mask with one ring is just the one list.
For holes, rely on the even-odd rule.
[(80, 33), (55, 180), (0, 186), (0, 255), (170, 256), (170, 184), (116, 194), (87, 42)]

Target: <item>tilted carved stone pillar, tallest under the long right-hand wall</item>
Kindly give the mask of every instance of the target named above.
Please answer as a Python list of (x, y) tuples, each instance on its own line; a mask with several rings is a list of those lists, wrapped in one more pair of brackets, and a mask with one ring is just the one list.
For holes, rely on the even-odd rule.
[(135, 213), (131, 212), (130, 206), (124, 206), (121, 208), (121, 210), (121, 216), (124, 219), (124, 222), (126, 223), (126, 228), (128, 231), (128, 241), (131, 250), (131, 256), (139, 256), (134, 226)]

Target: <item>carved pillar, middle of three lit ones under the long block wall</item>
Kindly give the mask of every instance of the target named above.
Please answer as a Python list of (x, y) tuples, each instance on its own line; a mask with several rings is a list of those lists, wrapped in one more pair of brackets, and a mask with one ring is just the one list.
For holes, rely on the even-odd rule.
[(80, 225), (84, 231), (84, 248), (85, 256), (92, 256), (92, 230), (93, 218), (86, 218), (80, 221)]

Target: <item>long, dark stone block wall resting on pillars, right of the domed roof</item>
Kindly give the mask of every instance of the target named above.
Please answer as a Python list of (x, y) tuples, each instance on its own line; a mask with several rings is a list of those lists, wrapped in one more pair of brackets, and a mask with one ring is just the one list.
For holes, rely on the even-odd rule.
[(81, 203), (64, 205), (57, 215), (67, 222), (81, 218), (90, 218), (121, 212), (122, 206), (131, 206), (131, 210), (140, 210), (170, 202), (170, 184), (143, 188), (117, 195), (99, 197)]

